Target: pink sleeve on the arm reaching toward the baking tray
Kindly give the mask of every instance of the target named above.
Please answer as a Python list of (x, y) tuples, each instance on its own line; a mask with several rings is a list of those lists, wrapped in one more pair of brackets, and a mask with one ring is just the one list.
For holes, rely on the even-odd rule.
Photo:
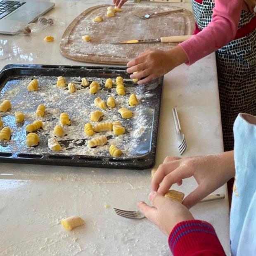
[(230, 43), (237, 33), (243, 0), (216, 0), (209, 25), (197, 35), (179, 45), (191, 65)]

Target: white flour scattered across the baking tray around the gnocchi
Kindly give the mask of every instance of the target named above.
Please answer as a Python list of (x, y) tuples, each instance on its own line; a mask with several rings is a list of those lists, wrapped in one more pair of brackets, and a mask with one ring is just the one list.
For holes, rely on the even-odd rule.
[[(106, 78), (88, 77), (90, 83), (97, 81), (100, 83), (101, 89), (95, 94), (89, 93), (89, 87), (81, 85), (81, 77), (66, 77), (66, 83), (73, 82), (76, 84), (76, 91), (69, 93), (65, 88), (57, 88), (57, 77), (38, 76), (38, 91), (29, 92), (26, 86), (31, 81), (31, 77), (22, 76), (14, 77), (7, 82), (5, 87), (0, 91), (0, 102), (3, 99), (9, 99), (12, 103), (12, 110), (7, 113), (1, 113), (5, 126), (9, 126), (12, 130), (12, 137), (9, 142), (2, 142), (0, 151), (5, 152), (30, 152), (33, 154), (54, 153), (47, 147), (49, 138), (54, 137), (53, 129), (59, 123), (59, 115), (66, 112), (70, 119), (70, 126), (63, 126), (64, 136), (56, 138), (63, 150), (58, 154), (66, 155), (87, 155), (87, 156), (109, 156), (109, 145), (114, 144), (123, 151), (124, 157), (139, 156), (147, 153), (142, 147), (145, 141), (150, 141), (152, 131), (152, 122), (154, 118), (154, 109), (150, 107), (150, 97), (154, 97), (154, 93), (145, 92), (143, 86), (126, 87), (126, 95), (118, 96), (116, 88), (104, 88)], [(130, 80), (124, 80), (124, 83), (131, 83)], [(136, 107), (128, 105), (128, 98), (131, 93), (137, 95), (140, 104)], [(84, 133), (85, 123), (90, 121), (90, 113), (97, 110), (94, 104), (96, 97), (107, 100), (107, 97), (113, 96), (116, 100), (114, 109), (101, 110), (104, 114), (101, 122), (120, 121), (122, 126), (126, 128), (126, 133), (115, 136), (113, 132), (95, 133), (93, 136), (87, 136)], [(42, 118), (36, 116), (36, 109), (39, 104), (46, 106), (46, 114)], [(118, 109), (127, 107), (133, 111), (133, 118), (122, 119), (118, 113)], [(25, 122), (16, 124), (14, 111), (23, 111)], [(37, 147), (28, 148), (26, 146), (26, 125), (35, 120), (43, 121), (43, 129), (37, 131), (40, 137), (40, 143)], [(88, 140), (105, 135), (108, 138), (107, 145), (97, 148), (87, 146)], [(148, 143), (148, 142), (147, 142)], [(149, 143), (150, 145), (150, 143)]]

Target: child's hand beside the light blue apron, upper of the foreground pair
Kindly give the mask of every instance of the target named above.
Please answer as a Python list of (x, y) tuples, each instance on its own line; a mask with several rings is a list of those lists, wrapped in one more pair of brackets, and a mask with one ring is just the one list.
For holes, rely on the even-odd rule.
[(198, 187), (183, 200), (187, 208), (194, 206), (235, 176), (233, 151), (185, 158), (168, 156), (157, 169), (151, 190), (164, 195), (174, 183), (181, 185), (183, 179), (192, 176)]

